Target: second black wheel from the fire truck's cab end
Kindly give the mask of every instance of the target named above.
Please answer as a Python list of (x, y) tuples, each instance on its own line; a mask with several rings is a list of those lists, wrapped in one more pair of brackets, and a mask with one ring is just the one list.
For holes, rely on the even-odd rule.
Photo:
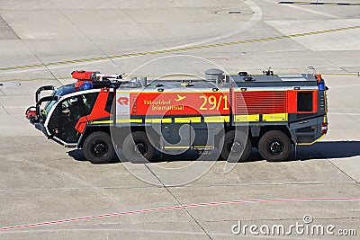
[(125, 138), (122, 153), (131, 163), (145, 164), (155, 155), (155, 147), (143, 131), (135, 131)]

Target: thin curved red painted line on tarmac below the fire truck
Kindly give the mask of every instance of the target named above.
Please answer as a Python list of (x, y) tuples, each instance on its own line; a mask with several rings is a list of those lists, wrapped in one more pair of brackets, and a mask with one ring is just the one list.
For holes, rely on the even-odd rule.
[(25, 224), (13, 227), (1, 227), (0, 231), (7, 231), (13, 229), (21, 229), (25, 227), (40, 227), (40, 226), (47, 226), (47, 225), (55, 225), (55, 224), (62, 224), (68, 222), (76, 222), (82, 220), (90, 220), (95, 218), (109, 218), (109, 217), (118, 217), (121, 215), (131, 215), (137, 213), (147, 213), (147, 212), (154, 212), (154, 211), (164, 211), (170, 209), (186, 209), (186, 208), (198, 208), (204, 206), (217, 206), (217, 205), (227, 205), (227, 204), (238, 204), (238, 203), (250, 203), (250, 202), (284, 202), (284, 201), (317, 201), (317, 200), (337, 200), (337, 201), (360, 201), (360, 198), (294, 198), (294, 199), (265, 199), (265, 200), (223, 200), (223, 201), (215, 201), (215, 202), (203, 202), (203, 203), (195, 203), (195, 204), (187, 204), (187, 205), (179, 205), (179, 206), (169, 206), (163, 208), (156, 208), (156, 209), (139, 209), (139, 210), (132, 210), (132, 211), (121, 211), (116, 213), (107, 213), (102, 215), (94, 215), (89, 217), (80, 217), (80, 218), (68, 218), (62, 220), (55, 220), (49, 222), (40, 222), (40, 223), (32, 223), (32, 224)]

